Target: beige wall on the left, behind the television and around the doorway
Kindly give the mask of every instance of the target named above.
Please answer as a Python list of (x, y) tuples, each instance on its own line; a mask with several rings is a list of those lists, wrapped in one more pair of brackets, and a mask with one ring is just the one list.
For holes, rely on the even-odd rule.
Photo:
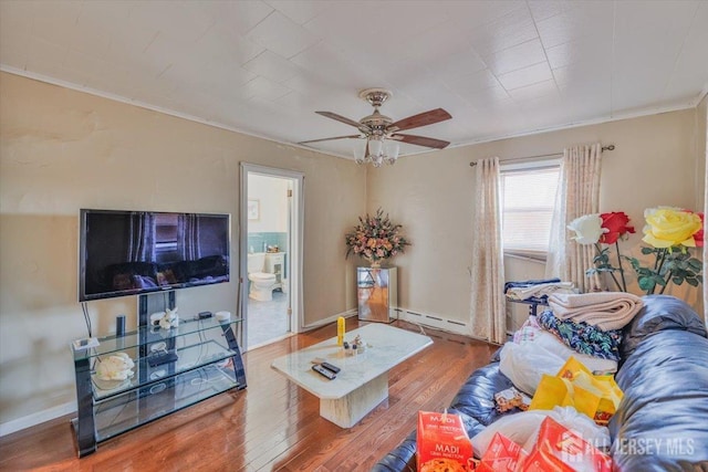
[[(7, 73), (0, 104), (0, 424), (75, 400), (80, 208), (231, 213), (236, 275), (239, 164), (303, 172), (304, 323), (355, 306), (342, 235), (365, 210), (364, 168)], [(236, 303), (236, 282), (177, 293), (185, 315)], [(136, 323), (135, 297), (88, 310), (98, 335)]]

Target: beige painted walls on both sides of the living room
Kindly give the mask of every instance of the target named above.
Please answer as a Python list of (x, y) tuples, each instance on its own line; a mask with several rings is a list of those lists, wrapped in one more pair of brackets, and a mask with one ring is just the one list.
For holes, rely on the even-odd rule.
[[(239, 162), (296, 170), (305, 175), (305, 325), (356, 307), (361, 261), (344, 260), (343, 234), (378, 207), (413, 241), (393, 261), (399, 304), (465, 323), (471, 160), (601, 140), (617, 146), (604, 159), (602, 210), (626, 211), (641, 228), (646, 207), (698, 209), (704, 198), (705, 101), (698, 109), (404, 157), (381, 169), (6, 73), (0, 104), (0, 427), (61, 415), (75, 399), (67, 346), (85, 336), (76, 302), (80, 208), (231, 213), (236, 273)], [(520, 277), (538, 273), (523, 262), (508, 265)], [(177, 302), (180, 313), (236, 311), (236, 296), (232, 282), (179, 291)], [(95, 332), (114, 329), (122, 313), (135, 325), (135, 304), (90, 303)]]

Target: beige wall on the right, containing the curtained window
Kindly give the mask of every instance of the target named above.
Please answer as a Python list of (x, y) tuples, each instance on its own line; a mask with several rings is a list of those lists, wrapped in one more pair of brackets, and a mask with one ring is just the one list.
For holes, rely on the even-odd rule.
[[(603, 156), (601, 210), (625, 211), (641, 233), (645, 208), (702, 208), (705, 151), (696, 143), (705, 135), (698, 136), (696, 119), (695, 108), (664, 113), (404, 157), (394, 167), (369, 171), (368, 210), (381, 206), (389, 211), (413, 242), (395, 260), (400, 306), (462, 323), (468, 318), (476, 230), (470, 161), (559, 153), (573, 144), (614, 144), (616, 149)], [(633, 235), (623, 243), (623, 253), (638, 252), (639, 242), (641, 235)], [(507, 279), (539, 274), (530, 264), (508, 262)], [(702, 312), (700, 290), (671, 293)]]

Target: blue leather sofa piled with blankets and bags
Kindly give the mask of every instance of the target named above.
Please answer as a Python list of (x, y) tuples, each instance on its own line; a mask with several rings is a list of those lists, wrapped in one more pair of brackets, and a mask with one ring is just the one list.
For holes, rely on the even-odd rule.
[[(708, 472), (708, 334), (690, 306), (648, 295), (624, 328), (616, 381), (624, 398), (610, 422), (617, 471)], [(498, 358), (467, 379), (448, 411), (469, 437), (499, 418), (493, 395), (511, 387)], [(507, 413), (508, 415), (508, 413)], [(415, 471), (416, 432), (382, 458), (375, 472)]]

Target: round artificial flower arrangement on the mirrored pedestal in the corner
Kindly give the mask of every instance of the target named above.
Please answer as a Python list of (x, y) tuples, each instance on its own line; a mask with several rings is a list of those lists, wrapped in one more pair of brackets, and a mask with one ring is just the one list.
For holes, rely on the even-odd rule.
[(400, 232), (402, 225), (394, 224), (381, 208), (373, 217), (368, 213), (358, 217), (358, 222), (354, 231), (344, 237), (347, 258), (354, 253), (369, 261), (372, 266), (377, 266), (381, 261), (404, 252), (404, 248), (410, 245)]

